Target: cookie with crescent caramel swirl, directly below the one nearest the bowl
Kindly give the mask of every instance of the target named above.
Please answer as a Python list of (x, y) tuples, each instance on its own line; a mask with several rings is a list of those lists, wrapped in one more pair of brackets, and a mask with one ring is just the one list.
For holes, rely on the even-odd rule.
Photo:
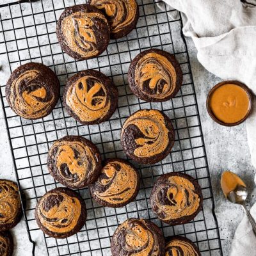
[(142, 109), (124, 122), (121, 144), (138, 163), (153, 164), (168, 156), (174, 144), (171, 120), (156, 109)]

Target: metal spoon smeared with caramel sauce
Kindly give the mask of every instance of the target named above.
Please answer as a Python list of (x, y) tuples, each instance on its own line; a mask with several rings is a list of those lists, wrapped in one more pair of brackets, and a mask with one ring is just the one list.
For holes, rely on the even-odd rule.
[(230, 202), (232, 202), (233, 204), (243, 205), (244, 211), (246, 212), (246, 215), (247, 215), (250, 223), (252, 224), (252, 229), (253, 229), (253, 232), (254, 232), (254, 234), (256, 236), (256, 223), (255, 223), (255, 220), (253, 219), (252, 215), (248, 211), (248, 209), (246, 207), (246, 204), (245, 204), (245, 200), (246, 200), (246, 198), (248, 196), (248, 189), (246, 188), (243, 180), (241, 180), (235, 173), (231, 173), (230, 172), (230, 174), (234, 175), (234, 177), (237, 179), (237, 184), (234, 184), (235, 185), (234, 188), (227, 193), (227, 190), (225, 189), (225, 185), (230, 180), (225, 180), (225, 175), (223, 173), (223, 175), (221, 176), (221, 188), (223, 190), (223, 193), (224, 193), (225, 196), (227, 196), (227, 199)]

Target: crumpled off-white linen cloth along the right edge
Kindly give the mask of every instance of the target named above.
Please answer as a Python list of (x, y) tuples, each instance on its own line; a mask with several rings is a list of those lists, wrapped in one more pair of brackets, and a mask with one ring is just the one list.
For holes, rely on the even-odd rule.
[[(171, 9), (182, 12), (183, 33), (193, 39), (200, 63), (224, 80), (235, 79), (245, 83), (256, 94), (256, 1), (164, 2)], [(163, 2), (158, 5), (165, 9)], [(246, 130), (252, 164), (256, 167), (256, 100), (253, 110), (246, 121)], [(256, 218), (256, 204), (251, 212)], [(256, 237), (246, 216), (237, 227), (230, 256), (256, 256)]]

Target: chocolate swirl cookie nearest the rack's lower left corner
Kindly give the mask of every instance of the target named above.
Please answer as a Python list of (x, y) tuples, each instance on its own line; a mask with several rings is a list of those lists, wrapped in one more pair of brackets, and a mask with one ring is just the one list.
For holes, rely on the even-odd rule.
[(35, 218), (38, 227), (48, 236), (72, 236), (86, 221), (84, 200), (72, 189), (52, 189), (37, 202)]

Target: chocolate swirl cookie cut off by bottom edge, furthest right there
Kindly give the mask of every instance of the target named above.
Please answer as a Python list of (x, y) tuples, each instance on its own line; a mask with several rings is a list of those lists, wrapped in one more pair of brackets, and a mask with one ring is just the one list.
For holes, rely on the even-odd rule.
[(195, 244), (188, 238), (182, 236), (173, 236), (166, 243), (164, 256), (173, 255), (201, 256)]

